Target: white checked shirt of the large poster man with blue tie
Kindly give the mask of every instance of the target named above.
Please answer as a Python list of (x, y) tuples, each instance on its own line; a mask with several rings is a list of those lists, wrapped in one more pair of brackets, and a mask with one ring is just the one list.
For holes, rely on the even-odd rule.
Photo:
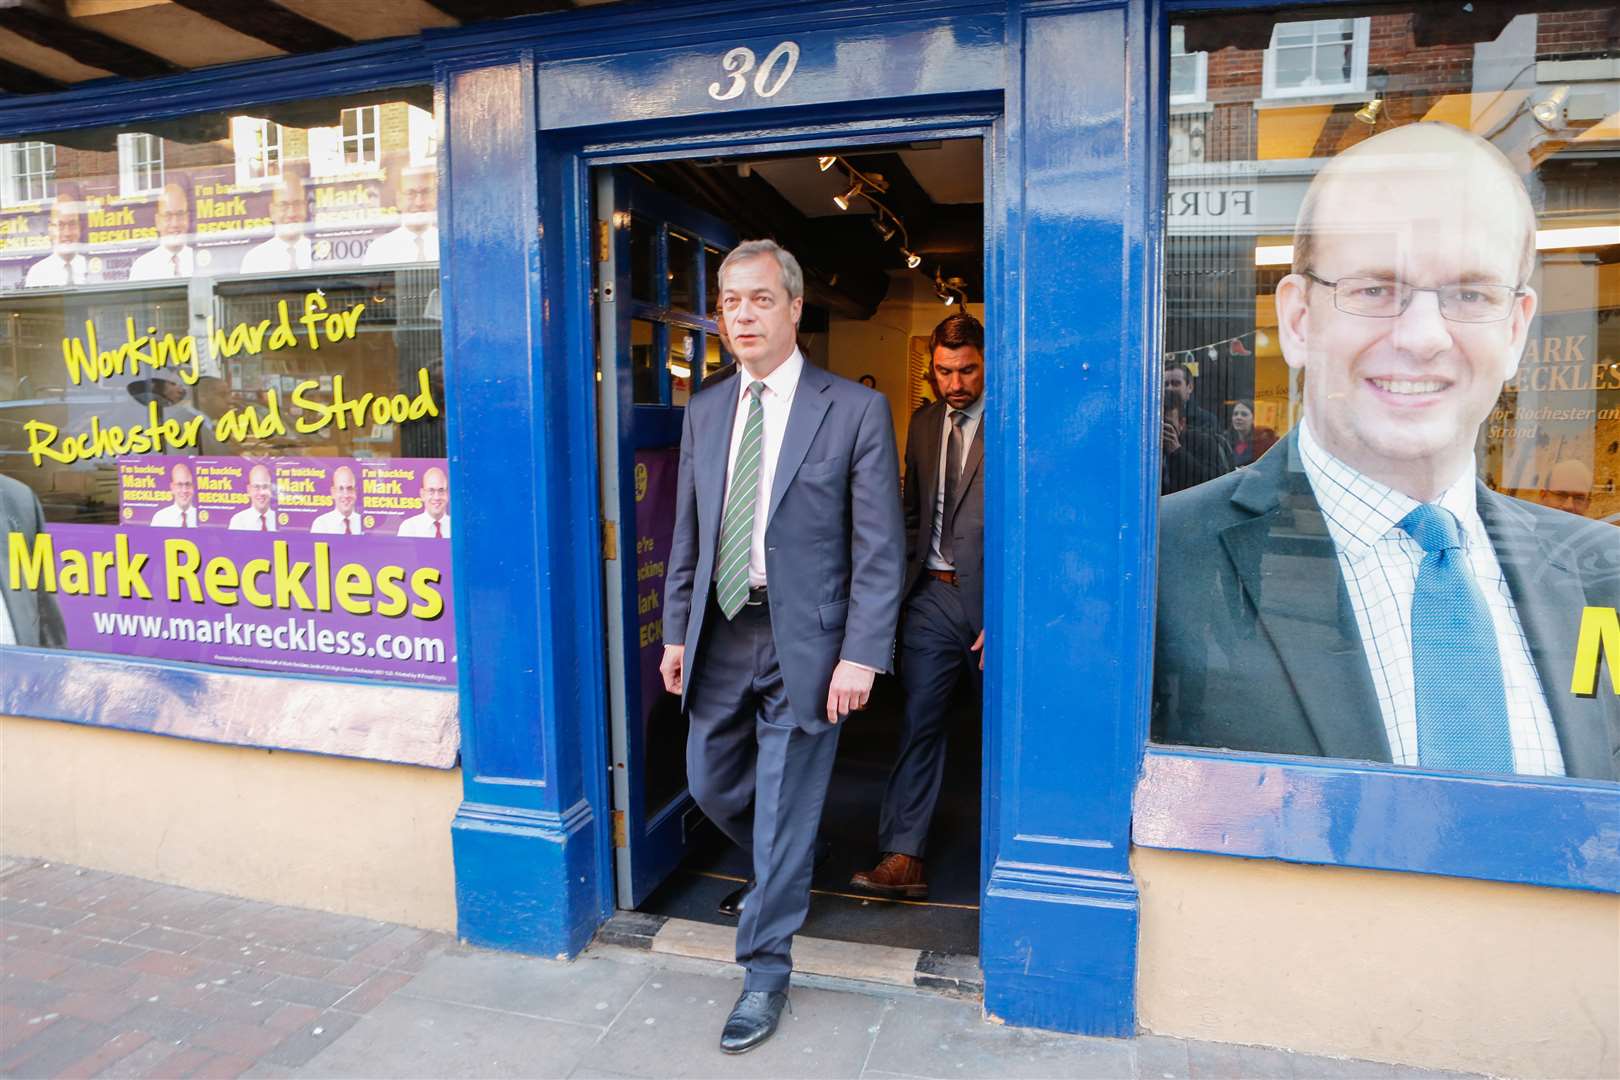
[[(1424, 551), (1405, 529), (1401, 518), (1418, 507), (1403, 495), (1345, 465), (1299, 424), (1299, 458), (1327, 520), (1338, 551), (1356, 627), (1379, 695), (1383, 730), (1395, 764), (1418, 764), (1418, 693), (1413, 680), (1411, 606), (1418, 567)], [(1474, 575), (1490, 609), (1502, 659), (1502, 687), (1507, 691), (1508, 730), (1513, 738), (1513, 771), (1526, 776), (1563, 776), (1563, 753), (1552, 727), (1552, 714), (1541, 677), (1529, 656), (1513, 594), (1497, 552), (1476, 508), (1474, 470), (1468, 468), (1435, 504), (1456, 517), (1460, 536)]]

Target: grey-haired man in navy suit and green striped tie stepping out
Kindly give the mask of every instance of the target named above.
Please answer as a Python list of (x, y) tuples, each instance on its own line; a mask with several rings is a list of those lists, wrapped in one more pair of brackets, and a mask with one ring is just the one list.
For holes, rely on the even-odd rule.
[(661, 670), (692, 797), (753, 860), (719, 1040), (740, 1054), (787, 1002), (838, 724), (889, 669), (904, 562), (888, 402), (805, 363), (797, 259), (747, 241), (719, 285), (739, 371), (687, 405)]

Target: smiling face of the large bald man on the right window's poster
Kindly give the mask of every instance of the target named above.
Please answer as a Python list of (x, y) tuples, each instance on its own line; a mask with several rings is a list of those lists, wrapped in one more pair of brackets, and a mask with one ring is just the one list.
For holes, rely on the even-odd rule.
[[(1524, 222), (1507, 198), (1511, 178), (1456, 157), (1456, 168), (1424, 175), (1393, 168), (1327, 181), (1311, 270), (1430, 288), (1520, 285)], [(1367, 207), (1377, 207), (1375, 223), (1366, 223)], [(1471, 461), (1479, 424), (1518, 368), (1536, 295), (1526, 290), (1500, 322), (1445, 319), (1435, 293), (1377, 319), (1338, 311), (1330, 287), (1291, 274), (1277, 311), (1283, 356), (1306, 374), (1312, 434), (1361, 473), (1432, 499)]]

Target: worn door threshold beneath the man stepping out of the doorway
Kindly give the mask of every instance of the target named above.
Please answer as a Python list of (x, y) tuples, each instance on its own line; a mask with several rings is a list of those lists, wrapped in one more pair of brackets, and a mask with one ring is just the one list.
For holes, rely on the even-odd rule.
[[(646, 912), (616, 912), (596, 933), (604, 944), (732, 965), (737, 929)], [(927, 989), (951, 997), (982, 997), (985, 978), (977, 957), (867, 946), (829, 938), (794, 936), (794, 972), (881, 986)]]

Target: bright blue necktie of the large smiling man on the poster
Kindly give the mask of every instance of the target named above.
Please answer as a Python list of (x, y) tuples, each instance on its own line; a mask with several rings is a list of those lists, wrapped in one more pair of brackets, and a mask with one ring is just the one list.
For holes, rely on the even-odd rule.
[(1424, 504), (1400, 521), (1424, 549), (1413, 589), (1418, 763), (1427, 769), (1511, 772), (1502, 657), (1448, 510)]

